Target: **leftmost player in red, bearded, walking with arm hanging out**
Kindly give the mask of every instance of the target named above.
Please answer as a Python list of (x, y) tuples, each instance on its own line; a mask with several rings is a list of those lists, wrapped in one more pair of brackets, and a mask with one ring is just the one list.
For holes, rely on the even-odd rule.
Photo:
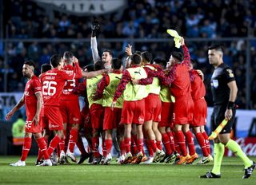
[(26, 82), (26, 87), (22, 99), (18, 101), (18, 104), (6, 114), (6, 120), (10, 120), (14, 112), (18, 111), (23, 104), (26, 106), (26, 128), (25, 128), (25, 140), (22, 148), (22, 157), (17, 163), (11, 163), (10, 166), (26, 166), (26, 156), (30, 152), (31, 137), (34, 136), (38, 143), (44, 161), (41, 166), (52, 166), (47, 153), (46, 141), (42, 137), (42, 85), (34, 75), (35, 64), (34, 61), (25, 61), (22, 67), (22, 73), (24, 77), (27, 77), (29, 81)]

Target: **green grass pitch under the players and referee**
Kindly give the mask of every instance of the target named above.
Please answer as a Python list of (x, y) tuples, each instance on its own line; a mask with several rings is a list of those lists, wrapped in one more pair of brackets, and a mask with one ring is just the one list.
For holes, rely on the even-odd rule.
[[(10, 167), (18, 156), (0, 156), (0, 184), (256, 184), (256, 171), (250, 179), (242, 179), (243, 165), (238, 157), (225, 157), (222, 161), (222, 179), (199, 179), (213, 166), (206, 165), (58, 165), (34, 166), (35, 157), (26, 159), (26, 167)], [(256, 161), (256, 157), (251, 158)], [(197, 162), (197, 161), (196, 161)], [(217, 182), (219, 181), (219, 182)]]

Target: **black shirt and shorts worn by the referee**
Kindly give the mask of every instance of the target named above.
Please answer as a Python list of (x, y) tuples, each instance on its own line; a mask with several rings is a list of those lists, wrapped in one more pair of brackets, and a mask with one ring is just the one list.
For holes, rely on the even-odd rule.
[[(213, 131), (222, 123), (222, 120), (225, 119), (225, 112), (230, 98), (230, 88), (227, 84), (230, 83), (230, 81), (235, 81), (232, 69), (225, 63), (218, 65), (218, 67), (214, 69), (213, 76), (210, 79), (211, 92), (214, 99), (214, 111), (210, 119)], [(231, 108), (233, 116), (222, 129), (222, 132), (220, 132), (221, 134), (230, 133), (232, 130), (235, 108), (234, 106)]]

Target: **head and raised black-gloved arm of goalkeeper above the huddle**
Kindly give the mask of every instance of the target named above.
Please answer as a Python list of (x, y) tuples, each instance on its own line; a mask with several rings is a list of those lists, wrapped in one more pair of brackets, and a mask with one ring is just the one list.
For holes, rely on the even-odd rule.
[(100, 23), (98, 20), (94, 20), (92, 26), (91, 26), (91, 37), (90, 37), (90, 47), (93, 53), (93, 59), (94, 59), (94, 64), (96, 61), (102, 60), (104, 61), (104, 67), (105, 69), (111, 69), (111, 61), (113, 58), (113, 52), (110, 50), (104, 50), (102, 53), (102, 58), (99, 57), (98, 54), (98, 45), (97, 45), (97, 39), (96, 39), (96, 34), (98, 30), (100, 29)]

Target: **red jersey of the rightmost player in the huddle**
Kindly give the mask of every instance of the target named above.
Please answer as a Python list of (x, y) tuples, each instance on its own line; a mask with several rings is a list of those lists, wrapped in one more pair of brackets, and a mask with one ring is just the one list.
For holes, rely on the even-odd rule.
[(201, 99), (206, 96), (206, 87), (196, 70), (192, 69), (190, 73), (194, 74), (194, 81), (191, 81), (192, 98), (193, 100)]

